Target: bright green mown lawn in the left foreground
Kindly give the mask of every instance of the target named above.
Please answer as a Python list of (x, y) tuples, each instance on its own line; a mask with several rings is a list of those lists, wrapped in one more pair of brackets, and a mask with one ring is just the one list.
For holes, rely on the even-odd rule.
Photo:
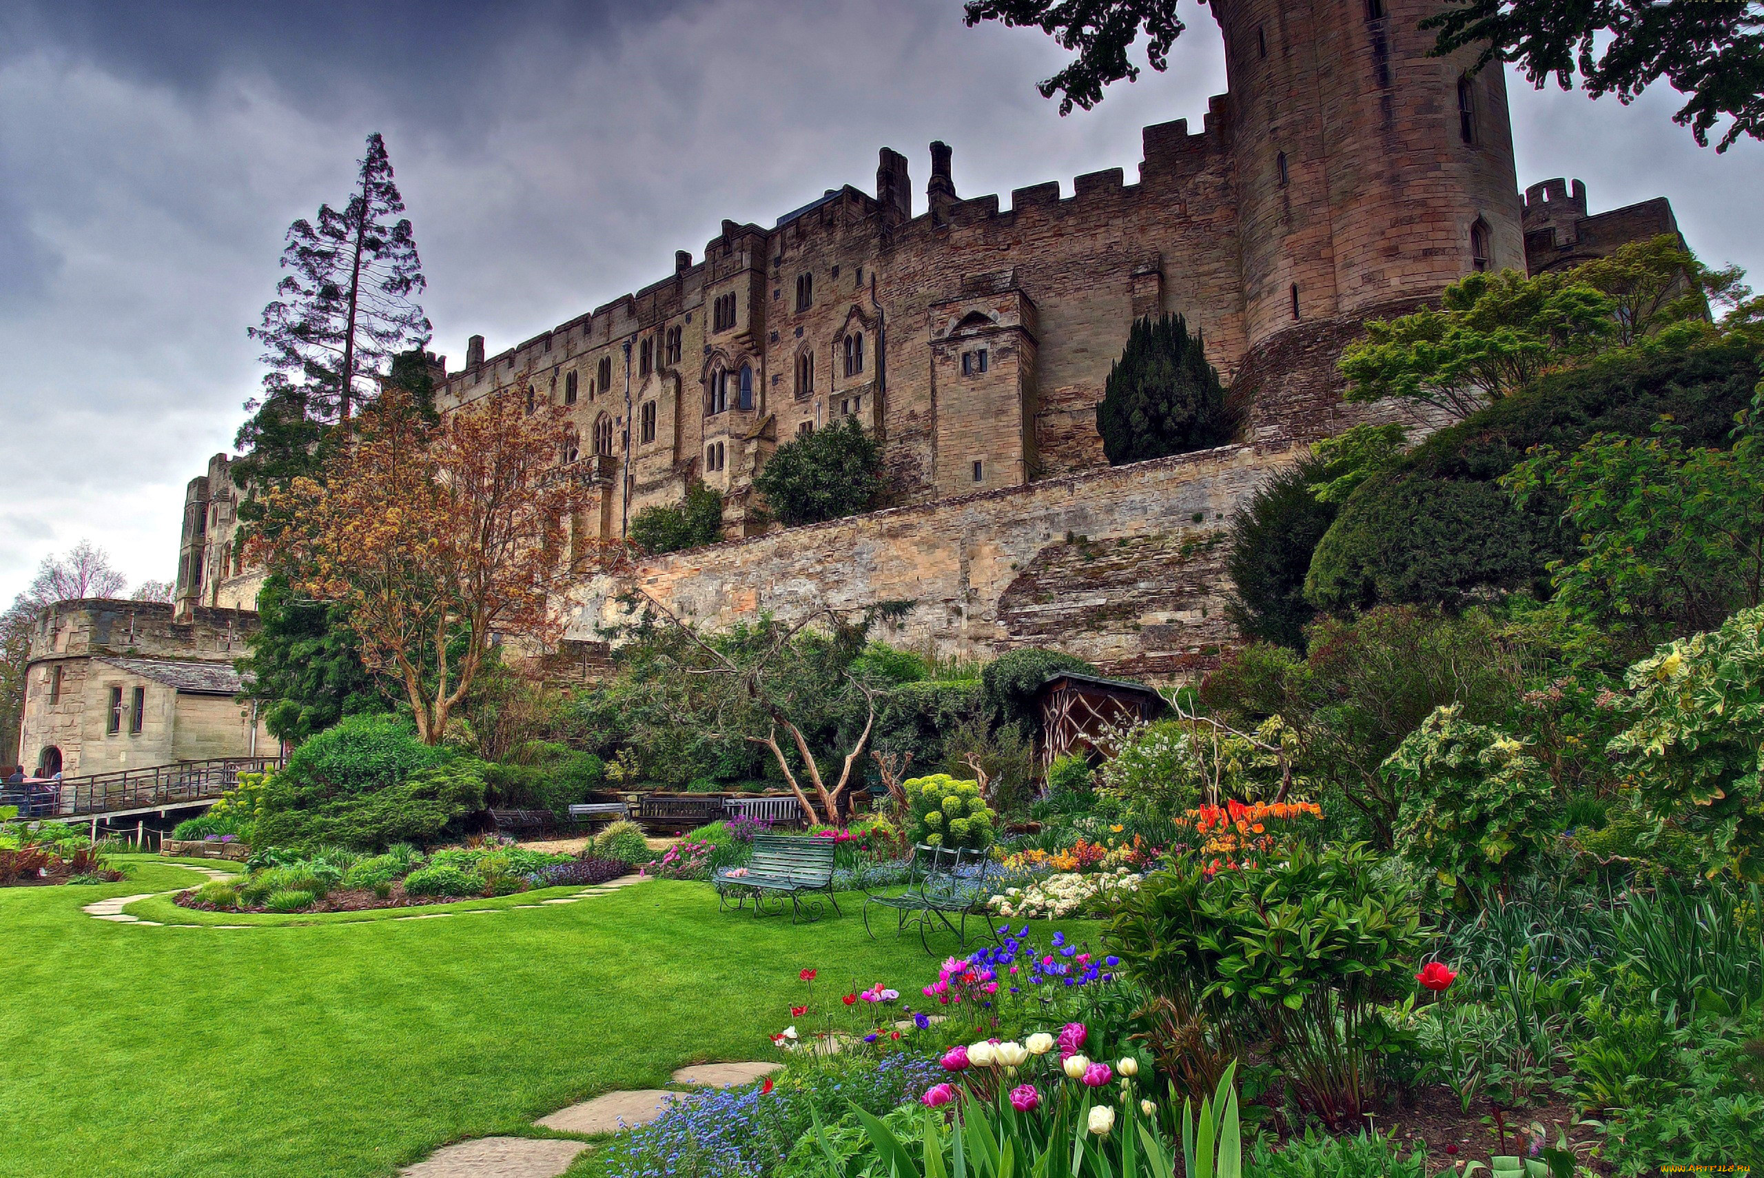
[[(392, 1174), (683, 1063), (771, 1058), (803, 966), (908, 995), (937, 970), (916, 936), (871, 942), (861, 896), (841, 898), (843, 919), (792, 928), (720, 913), (702, 884), (250, 929), (79, 910), (201, 882), (155, 859), (132, 873), (0, 889), (0, 1174)], [(194, 919), (152, 905), (131, 910)]]

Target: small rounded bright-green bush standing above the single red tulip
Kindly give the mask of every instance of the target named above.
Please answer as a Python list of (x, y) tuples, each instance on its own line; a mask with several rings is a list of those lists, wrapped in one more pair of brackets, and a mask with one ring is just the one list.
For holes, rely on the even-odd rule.
[(1402, 737), (1383, 772), (1397, 783), (1397, 850), (1446, 887), (1498, 884), (1529, 866), (1559, 808), (1544, 764), (1521, 741), (1434, 711)]

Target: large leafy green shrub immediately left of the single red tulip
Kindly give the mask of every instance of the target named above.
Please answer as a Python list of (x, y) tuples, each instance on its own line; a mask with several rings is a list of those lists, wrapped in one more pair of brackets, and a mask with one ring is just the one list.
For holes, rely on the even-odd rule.
[(1300, 1106), (1332, 1129), (1376, 1107), (1378, 1005), (1413, 991), (1424, 929), (1415, 892), (1364, 846), (1150, 875), (1106, 936), (1154, 996), (1270, 1032)]

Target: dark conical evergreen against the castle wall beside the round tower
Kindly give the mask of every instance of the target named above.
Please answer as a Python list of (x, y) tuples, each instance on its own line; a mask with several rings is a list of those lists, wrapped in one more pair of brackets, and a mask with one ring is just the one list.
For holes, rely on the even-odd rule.
[(1219, 372), (1184, 317), (1134, 323), (1097, 402), (1110, 466), (1224, 446), (1237, 429)]

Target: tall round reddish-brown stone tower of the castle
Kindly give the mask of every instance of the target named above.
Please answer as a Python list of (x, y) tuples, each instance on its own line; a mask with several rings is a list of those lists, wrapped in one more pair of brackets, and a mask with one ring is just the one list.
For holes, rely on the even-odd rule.
[(1316, 436), (1334, 358), (1476, 268), (1524, 270), (1499, 67), (1434, 58), (1438, 0), (1214, 0), (1258, 436)]

